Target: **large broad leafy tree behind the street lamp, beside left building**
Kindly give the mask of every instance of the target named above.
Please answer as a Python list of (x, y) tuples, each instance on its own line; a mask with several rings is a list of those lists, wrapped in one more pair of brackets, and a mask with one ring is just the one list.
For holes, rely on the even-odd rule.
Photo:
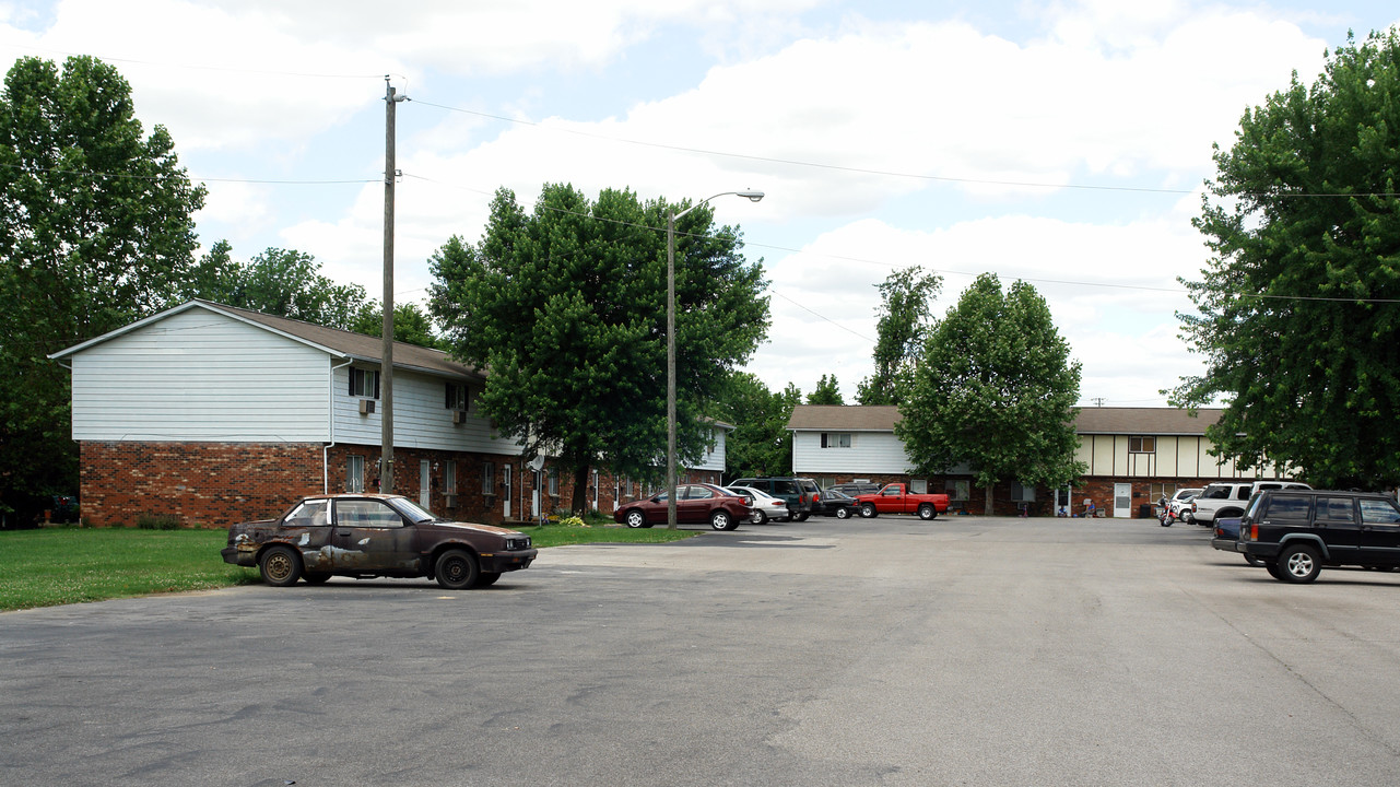
[[(431, 259), (452, 353), (490, 370), (482, 406), (525, 454), (559, 457), (585, 507), (592, 466), (644, 478), (666, 447), (666, 216), (682, 204), (546, 185), (526, 211), (496, 193), (484, 237)], [(759, 265), (697, 207), (676, 225), (678, 454), (708, 444), (707, 409), (769, 325)]]

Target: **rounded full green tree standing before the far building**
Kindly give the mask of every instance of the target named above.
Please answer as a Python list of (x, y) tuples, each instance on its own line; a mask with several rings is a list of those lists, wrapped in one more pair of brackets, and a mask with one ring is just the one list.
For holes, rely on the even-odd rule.
[(969, 464), (991, 514), (998, 482), (1054, 487), (1084, 473), (1078, 398), (1079, 363), (1044, 298), (983, 273), (928, 336), (895, 433), (920, 473)]

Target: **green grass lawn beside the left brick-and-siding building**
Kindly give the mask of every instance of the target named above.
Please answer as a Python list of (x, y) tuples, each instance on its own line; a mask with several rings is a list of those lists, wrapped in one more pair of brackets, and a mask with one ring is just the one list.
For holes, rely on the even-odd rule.
[[(664, 543), (699, 531), (665, 528), (521, 528), (536, 548), (568, 543)], [(45, 528), (0, 531), (0, 612), (262, 581), (218, 550), (228, 531)]]

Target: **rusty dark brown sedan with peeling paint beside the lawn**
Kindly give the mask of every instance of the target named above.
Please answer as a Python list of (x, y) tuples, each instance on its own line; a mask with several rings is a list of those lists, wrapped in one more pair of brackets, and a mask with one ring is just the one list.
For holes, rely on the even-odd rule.
[(529, 536), (493, 525), (434, 517), (407, 497), (307, 497), (281, 518), (228, 528), (225, 563), (256, 566), (263, 581), (286, 587), (330, 577), (427, 577), (449, 590), (486, 587), (529, 567)]

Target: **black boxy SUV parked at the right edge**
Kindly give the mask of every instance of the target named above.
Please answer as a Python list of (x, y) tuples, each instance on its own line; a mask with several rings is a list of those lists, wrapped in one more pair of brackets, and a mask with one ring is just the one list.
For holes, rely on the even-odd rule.
[(1310, 583), (1323, 566), (1400, 566), (1400, 506), (1379, 492), (1270, 489), (1239, 521), (1235, 550), (1275, 580)]

